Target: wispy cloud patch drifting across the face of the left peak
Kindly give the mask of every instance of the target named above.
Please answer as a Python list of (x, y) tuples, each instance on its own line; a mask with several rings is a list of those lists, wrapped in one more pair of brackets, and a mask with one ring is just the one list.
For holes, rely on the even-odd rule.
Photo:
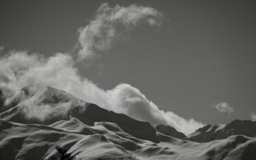
[(52, 89), (44, 84), (31, 84), (22, 90), (23, 99), (18, 105), (29, 119), (45, 121), (52, 117), (66, 117), (68, 110), (74, 106), (85, 106), (86, 102), (69, 93)]

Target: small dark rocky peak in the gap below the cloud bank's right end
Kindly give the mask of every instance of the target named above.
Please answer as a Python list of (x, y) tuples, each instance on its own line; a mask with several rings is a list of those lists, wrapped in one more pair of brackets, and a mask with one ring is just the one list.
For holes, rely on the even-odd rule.
[(164, 135), (169, 135), (173, 138), (185, 138), (186, 135), (184, 135), (184, 133), (181, 133), (179, 131), (177, 131), (175, 128), (169, 126), (169, 125), (157, 125), (155, 127), (156, 131), (164, 134)]

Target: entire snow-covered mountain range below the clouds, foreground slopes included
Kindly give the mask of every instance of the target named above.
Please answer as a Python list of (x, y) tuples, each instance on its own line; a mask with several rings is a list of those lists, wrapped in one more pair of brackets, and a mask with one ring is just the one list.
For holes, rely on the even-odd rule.
[[(76, 159), (256, 159), (256, 138), (248, 137), (254, 134), (251, 127), (241, 128), (247, 132), (234, 129), (244, 121), (208, 125), (188, 140), (180, 140), (174, 137), (182, 133), (173, 132), (174, 128), (155, 129), (49, 86), (1, 89), (0, 105), (1, 160), (58, 157), (55, 146)], [(210, 139), (216, 134), (216, 138), (205, 143), (189, 141), (204, 140), (199, 138), (202, 133), (209, 133)]]

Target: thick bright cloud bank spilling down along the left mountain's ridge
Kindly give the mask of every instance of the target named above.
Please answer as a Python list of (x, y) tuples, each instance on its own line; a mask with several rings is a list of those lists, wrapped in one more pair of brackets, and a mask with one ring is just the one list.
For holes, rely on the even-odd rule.
[[(148, 121), (152, 125), (171, 125), (186, 134), (203, 126), (193, 118), (187, 120), (173, 112), (159, 110), (158, 106), (130, 84), (119, 84), (107, 91), (100, 89), (94, 82), (79, 75), (78, 69), (74, 67), (74, 61), (67, 54), (57, 53), (53, 57), (45, 58), (40, 54), (12, 52), (0, 61), (0, 79), (0, 86), (11, 89), (21, 89), (33, 83), (53, 86), (85, 101), (96, 103), (107, 110), (127, 114), (141, 121)], [(41, 91), (41, 89), (38, 90)], [(60, 110), (59, 106), (68, 108), (66, 107), (68, 104), (61, 104), (54, 110), (51, 110), (48, 105), (27, 106), (33, 106), (33, 109), (26, 110), (27, 117), (38, 116), (40, 120), (57, 115), (57, 110)]]

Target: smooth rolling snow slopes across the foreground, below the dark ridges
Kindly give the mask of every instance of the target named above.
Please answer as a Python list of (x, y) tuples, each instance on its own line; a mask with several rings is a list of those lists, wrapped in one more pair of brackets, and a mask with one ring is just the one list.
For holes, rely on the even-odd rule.
[(134, 138), (115, 123), (85, 125), (76, 118), (52, 125), (0, 121), (1, 159), (58, 157), (59, 145), (76, 159), (256, 159), (256, 138), (232, 135), (226, 140), (190, 142), (165, 136), (158, 144)]

